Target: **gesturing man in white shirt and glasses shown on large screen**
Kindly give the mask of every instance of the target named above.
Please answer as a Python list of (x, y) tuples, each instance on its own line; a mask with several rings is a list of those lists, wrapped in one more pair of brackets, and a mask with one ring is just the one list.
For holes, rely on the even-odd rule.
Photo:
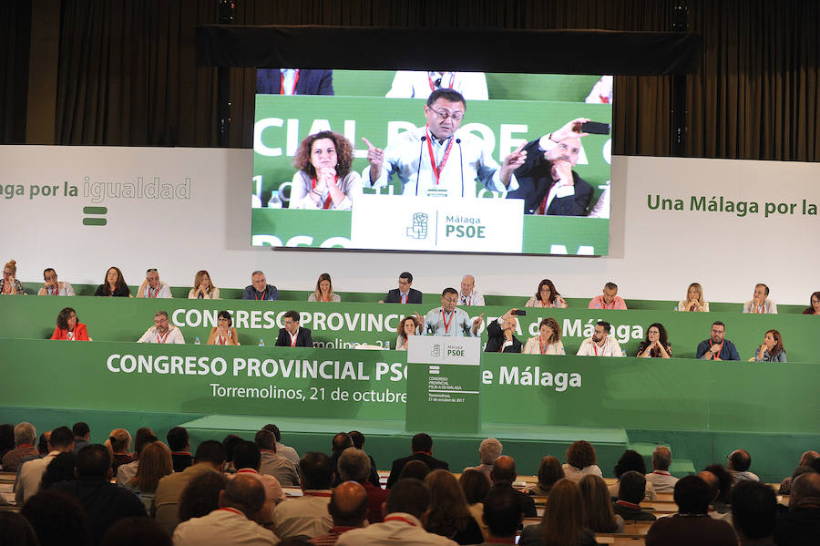
[(523, 145), (507, 155), (499, 166), (482, 139), (459, 131), (466, 102), (453, 89), (436, 89), (425, 104), (425, 126), (405, 131), (387, 148), (369, 140), (363, 171), (364, 184), (383, 188), (394, 175), (402, 194), (421, 197), (477, 197), (477, 181), (490, 191), (518, 189), (513, 171), (524, 164)]

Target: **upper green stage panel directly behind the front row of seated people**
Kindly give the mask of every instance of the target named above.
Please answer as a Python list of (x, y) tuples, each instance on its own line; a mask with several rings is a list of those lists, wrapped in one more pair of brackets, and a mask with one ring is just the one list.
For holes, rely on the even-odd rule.
[[(244, 300), (149, 300), (125, 298), (73, 298), (9, 296), (0, 298), (0, 331), (6, 337), (44, 339), (54, 332), (56, 315), (66, 305), (72, 306), (80, 322), (96, 341), (136, 341), (149, 326), (153, 315), (163, 309), (171, 322), (178, 325), (189, 344), (196, 337), (204, 344), (216, 314), (228, 310), (239, 330), (241, 345), (273, 345), (282, 327), (282, 314), (297, 309), (302, 314), (302, 326), (313, 331), (316, 348), (349, 348), (354, 344), (395, 346), (395, 329), (405, 314), (426, 314), (436, 307), (436, 296), (426, 296), (424, 305), (400, 304), (308, 304), (297, 302), (254, 302)], [(520, 303), (519, 303), (520, 304)], [(484, 314), (480, 332), (487, 341), (487, 321), (507, 312), (509, 307), (487, 306), (466, 308), (471, 316)], [(572, 307), (569, 309), (527, 309), (520, 317), (518, 337), (524, 342), (536, 335), (538, 322), (546, 316), (555, 317), (562, 329), (562, 341), (568, 355), (574, 355), (584, 337), (591, 335), (594, 323), (606, 320), (628, 355), (635, 355), (644, 329), (654, 322), (669, 331), (673, 354), (677, 358), (692, 358), (695, 349), (709, 335), (712, 321), (726, 324), (726, 337), (738, 347), (743, 359), (753, 355), (765, 331), (781, 332), (786, 355), (794, 362), (816, 362), (820, 354), (816, 321), (804, 314), (741, 314), (741, 313), (674, 313), (660, 310), (596, 311)], [(512, 356), (518, 358), (520, 356)], [(668, 363), (656, 362), (658, 366)], [(750, 365), (751, 366), (751, 365)], [(768, 366), (779, 366), (776, 364)]]

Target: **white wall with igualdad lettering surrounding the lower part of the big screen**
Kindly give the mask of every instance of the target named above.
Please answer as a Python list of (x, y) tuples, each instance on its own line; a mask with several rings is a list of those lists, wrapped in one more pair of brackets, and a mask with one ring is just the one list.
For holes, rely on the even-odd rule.
[[(487, 294), (530, 294), (551, 278), (569, 297), (600, 294), (613, 281), (626, 298), (681, 299), (692, 281), (710, 301), (750, 299), (753, 284), (768, 283), (783, 304), (807, 304), (820, 289), (814, 272), (817, 216), (802, 200), (820, 203), (820, 165), (776, 161), (615, 157), (612, 164), (610, 256), (535, 257), (384, 252), (275, 250), (250, 246), (252, 152), (249, 149), (0, 147), (0, 184), (25, 195), (0, 196), (0, 261), (14, 258), (17, 277), (42, 279), (53, 266), (61, 279), (101, 283), (109, 265), (138, 284), (148, 267), (163, 280), (190, 285), (199, 269), (218, 286), (241, 287), (261, 269), (280, 289), (313, 288), (318, 273), (333, 275), (340, 291), (379, 292), (397, 274), (414, 273), (428, 293), (457, 285), (473, 273)], [(84, 196), (97, 182), (180, 184), (190, 199)], [(63, 195), (65, 182), (77, 197)], [(32, 186), (58, 186), (58, 195), (30, 199)], [(680, 198), (685, 211), (651, 211), (647, 194)], [(691, 196), (758, 201), (761, 211), (689, 211)], [(794, 202), (794, 215), (764, 218), (764, 202)], [(82, 225), (83, 207), (107, 206), (106, 226)]]

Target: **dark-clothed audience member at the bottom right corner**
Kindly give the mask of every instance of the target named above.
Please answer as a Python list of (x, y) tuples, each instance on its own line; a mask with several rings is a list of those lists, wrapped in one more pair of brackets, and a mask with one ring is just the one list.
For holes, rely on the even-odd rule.
[(820, 537), (820, 474), (806, 472), (794, 479), (789, 511), (774, 527), (777, 546), (816, 544)]

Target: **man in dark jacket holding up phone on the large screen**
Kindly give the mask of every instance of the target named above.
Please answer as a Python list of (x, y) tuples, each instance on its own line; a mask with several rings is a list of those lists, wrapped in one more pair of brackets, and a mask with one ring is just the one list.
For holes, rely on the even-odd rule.
[(522, 151), (527, 155), (515, 176), (518, 189), (507, 199), (523, 199), (525, 214), (585, 216), (592, 199), (592, 186), (572, 170), (578, 164), (581, 131), (588, 118), (577, 118), (561, 129), (532, 140)]

